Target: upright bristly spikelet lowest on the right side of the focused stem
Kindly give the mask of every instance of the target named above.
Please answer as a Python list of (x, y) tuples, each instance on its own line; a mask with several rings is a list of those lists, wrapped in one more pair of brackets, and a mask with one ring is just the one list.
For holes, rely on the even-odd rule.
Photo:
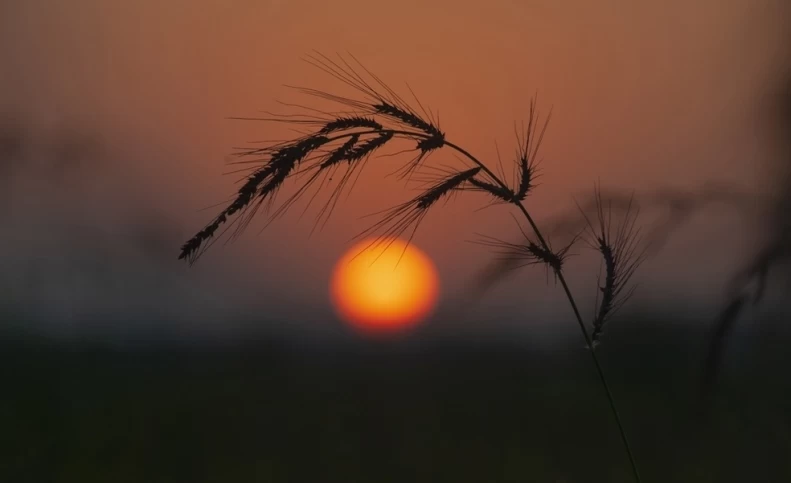
[[(612, 205), (602, 200), (601, 191), (596, 188), (596, 222), (585, 215), (586, 243), (599, 252), (604, 269), (603, 280), (599, 277), (598, 291), (594, 307), (593, 331), (591, 341), (598, 345), (604, 325), (626, 303), (634, 293), (635, 287), (629, 281), (637, 268), (645, 260), (645, 249), (641, 248), (640, 230), (637, 228), (639, 209), (630, 199), (623, 218), (615, 221)], [(616, 226), (613, 226), (613, 224)]]

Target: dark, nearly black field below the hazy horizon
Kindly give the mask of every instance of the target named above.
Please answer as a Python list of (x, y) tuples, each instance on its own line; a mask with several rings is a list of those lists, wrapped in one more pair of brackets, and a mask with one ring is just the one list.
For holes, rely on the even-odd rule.
[[(644, 481), (791, 481), (781, 322), (740, 326), (708, 404), (704, 331), (613, 325), (600, 353)], [(6, 336), (0, 481), (631, 481), (580, 342)]]

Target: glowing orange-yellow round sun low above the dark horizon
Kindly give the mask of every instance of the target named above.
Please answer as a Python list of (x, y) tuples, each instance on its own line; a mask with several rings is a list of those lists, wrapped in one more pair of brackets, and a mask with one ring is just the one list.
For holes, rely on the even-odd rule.
[(434, 264), (413, 244), (364, 240), (335, 266), (330, 295), (338, 314), (364, 332), (393, 332), (423, 320), (437, 300)]

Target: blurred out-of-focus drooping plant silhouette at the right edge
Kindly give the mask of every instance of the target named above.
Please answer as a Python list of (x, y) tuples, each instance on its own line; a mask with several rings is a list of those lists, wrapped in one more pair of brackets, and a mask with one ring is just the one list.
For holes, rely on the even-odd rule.
[[(726, 287), (725, 301), (712, 322), (709, 347), (701, 375), (703, 402), (711, 396), (722, 364), (724, 345), (739, 317), (763, 300), (771, 275), (788, 277), (788, 263), (791, 260), (791, 224), (788, 223), (786, 215), (788, 207), (791, 206), (791, 176), (788, 175), (788, 168), (781, 166), (777, 178), (775, 192), (769, 194), (749, 193), (729, 186), (707, 183), (690, 191), (665, 188), (635, 195), (615, 190), (608, 192), (606, 196), (611, 213), (625, 218), (629, 217), (635, 199), (640, 206), (663, 213), (658, 222), (648, 227), (644, 237), (645, 252), (638, 258), (660, 251), (674, 233), (706, 209), (724, 208), (753, 220), (759, 219), (763, 223), (763, 240), (756, 249), (745, 255), (741, 268), (731, 276)], [(595, 216), (600, 210), (600, 197), (598, 193), (587, 199), (578, 205), (579, 210), (586, 216)], [(555, 235), (581, 229), (587, 222), (576, 215), (565, 213), (549, 220), (545, 225), (545, 232)], [(477, 294), (483, 293), (503, 280), (516, 266), (518, 264), (515, 260), (507, 257), (492, 261), (477, 277), (473, 290)], [(628, 272), (628, 269), (622, 272), (624, 278), (627, 278)]]

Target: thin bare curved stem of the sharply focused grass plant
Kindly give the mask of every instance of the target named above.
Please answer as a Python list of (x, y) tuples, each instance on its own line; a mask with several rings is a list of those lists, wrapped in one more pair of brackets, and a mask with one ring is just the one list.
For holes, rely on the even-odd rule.
[[(495, 183), (499, 184), (503, 188), (508, 188), (508, 186), (500, 180), (489, 168), (487, 168), (481, 161), (479, 161), (475, 156), (467, 152), (464, 148), (457, 146), (450, 142), (445, 142), (445, 145), (449, 148), (459, 152), (460, 154), (466, 156), (470, 161), (475, 163), (476, 165), (480, 166), (481, 169), (489, 175)], [(538, 225), (536, 225), (535, 221), (533, 221), (533, 217), (530, 216), (530, 213), (527, 211), (527, 208), (522, 204), (521, 201), (515, 201), (514, 204), (519, 208), (519, 211), (527, 219), (527, 222), (530, 224), (530, 227), (533, 229), (533, 232), (536, 234), (539, 243), (541, 246), (547, 250), (551, 251), (549, 244), (544, 239), (541, 231), (538, 229)], [(599, 358), (596, 357), (596, 352), (594, 351), (593, 344), (591, 342), (590, 334), (588, 334), (588, 329), (585, 328), (585, 322), (582, 320), (582, 316), (580, 315), (580, 311), (577, 308), (577, 303), (574, 300), (574, 296), (571, 294), (571, 289), (569, 289), (568, 283), (566, 283), (566, 278), (563, 276), (563, 272), (561, 270), (556, 270), (555, 274), (558, 277), (558, 281), (560, 281), (560, 285), (563, 287), (563, 291), (566, 293), (566, 298), (571, 305), (571, 309), (574, 311), (574, 317), (577, 319), (577, 324), (579, 325), (580, 331), (582, 331), (582, 335), (585, 338), (585, 344), (588, 347), (588, 352), (590, 352), (591, 358), (593, 359), (593, 365), (596, 366), (596, 372), (599, 375), (599, 380), (601, 381), (602, 386), (604, 387), (604, 392), (607, 394), (607, 401), (610, 403), (610, 410), (612, 411), (613, 416), (615, 416), (615, 422), (618, 424), (618, 431), (621, 434), (621, 441), (623, 441), (623, 445), (626, 448), (626, 454), (629, 457), (629, 464), (632, 467), (632, 473), (634, 474), (635, 481), (640, 483), (640, 472), (637, 470), (637, 463), (635, 462), (634, 455), (632, 454), (632, 448), (629, 445), (629, 440), (626, 437), (626, 431), (624, 430), (623, 423), (621, 422), (621, 416), (618, 413), (618, 408), (615, 406), (615, 399), (612, 396), (612, 391), (610, 391), (610, 385), (607, 383), (607, 378), (604, 377), (604, 370), (602, 369), (601, 363), (599, 363)]]

